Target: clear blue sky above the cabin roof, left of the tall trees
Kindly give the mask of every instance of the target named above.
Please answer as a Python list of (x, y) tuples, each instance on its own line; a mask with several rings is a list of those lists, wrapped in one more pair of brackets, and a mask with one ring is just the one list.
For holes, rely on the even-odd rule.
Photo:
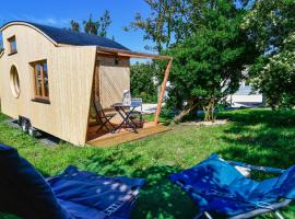
[(92, 13), (98, 19), (105, 10), (110, 12), (111, 21), (108, 37), (134, 51), (145, 51), (141, 31), (125, 32), (137, 12), (149, 16), (150, 8), (143, 0), (14, 0), (2, 1), (0, 7), (0, 25), (9, 21), (30, 21), (58, 27), (69, 27), (72, 19), (82, 23)]

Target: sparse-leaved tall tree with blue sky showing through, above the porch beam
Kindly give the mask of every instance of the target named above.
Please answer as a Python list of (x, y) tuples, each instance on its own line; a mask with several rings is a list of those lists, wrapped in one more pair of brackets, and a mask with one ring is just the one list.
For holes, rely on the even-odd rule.
[[(141, 30), (143, 39), (152, 41), (155, 46), (145, 46), (149, 50), (165, 53), (174, 44), (190, 36), (203, 24), (202, 9), (214, 8), (216, 0), (144, 0), (151, 9), (149, 18), (137, 13), (134, 21), (125, 31)], [(238, 3), (248, 7), (252, 0), (229, 0), (231, 4)]]

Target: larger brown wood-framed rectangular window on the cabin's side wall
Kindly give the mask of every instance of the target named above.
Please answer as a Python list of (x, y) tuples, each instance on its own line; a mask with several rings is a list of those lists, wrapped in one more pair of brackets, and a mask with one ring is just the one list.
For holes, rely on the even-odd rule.
[(34, 69), (35, 101), (49, 102), (47, 60), (31, 64)]

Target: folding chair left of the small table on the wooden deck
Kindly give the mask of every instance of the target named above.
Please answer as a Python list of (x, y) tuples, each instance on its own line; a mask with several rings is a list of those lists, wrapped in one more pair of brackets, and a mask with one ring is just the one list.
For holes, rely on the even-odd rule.
[(107, 125), (110, 125), (113, 129), (115, 129), (115, 126), (110, 123), (110, 119), (117, 115), (117, 113), (105, 113), (103, 110), (101, 102), (97, 100), (93, 100), (93, 105), (96, 113), (96, 120), (99, 125), (96, 132), (99, 132), (103, 128), (106, 128), (108, 131), (110, 131), (109, 127)]

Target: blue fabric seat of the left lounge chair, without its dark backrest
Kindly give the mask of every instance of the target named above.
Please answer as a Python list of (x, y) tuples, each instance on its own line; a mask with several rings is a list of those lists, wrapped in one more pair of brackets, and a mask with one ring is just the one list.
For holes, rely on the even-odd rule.
[[(69, 166), (48, 183), (62, 208), (74, 218), (129, 218), (141, 178), (106, 177)], [(117, 210), (118, 208), (118, 210)]]

